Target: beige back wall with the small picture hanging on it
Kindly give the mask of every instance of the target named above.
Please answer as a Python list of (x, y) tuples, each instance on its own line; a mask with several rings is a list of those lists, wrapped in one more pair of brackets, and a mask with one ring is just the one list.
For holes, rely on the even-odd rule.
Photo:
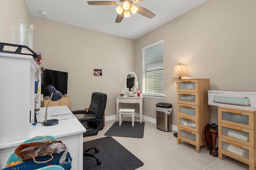
[[(115, 97), (128, 71), (134, 71), (134, 40), (30, 16), (34, 51), (46, 69), (68, 72), (71, 110), (89, 107), (94, 91), (108, 96), (105, 115), (116, 114)], [(94, 76), (102, 69), (102, 76)]]

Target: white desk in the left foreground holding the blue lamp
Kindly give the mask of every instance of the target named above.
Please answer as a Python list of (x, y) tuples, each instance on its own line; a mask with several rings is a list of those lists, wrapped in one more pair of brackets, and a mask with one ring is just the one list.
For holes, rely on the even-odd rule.
[[(41, 114), (45, 114), (46, 107), (42, 107)], [(48, 115), (52, 111), (67, 110), (66, 106), (53, 106), (48, 107)], [(69, 110), (69, 109), (68, 109)], [(57, 125), (45, 127), (41, 123), (37, 123), (36, 126), (32, 126), (30, 132), (30, 138), (35, 136), (54, 136), (57, 140), (61, 140), (68, 148), (70, 156), (72, 157), (72, 169), (83, 169), (83, 132), (86, 132), (84, 126), (73, 117), (71, 119), (60, 120)], [(14, 140), (9, 142), (0, 143), (0, 167), (4, 166), (4, 163), (8, 159), (8, 156), (14, 152), (14, 150), (22, 144), (24, 140)]]

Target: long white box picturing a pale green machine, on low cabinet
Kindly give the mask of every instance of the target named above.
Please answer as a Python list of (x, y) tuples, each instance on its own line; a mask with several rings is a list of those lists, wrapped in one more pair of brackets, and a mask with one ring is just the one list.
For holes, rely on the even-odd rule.
[(208, 90), (208, 105), (256, 111), (256, 92)]

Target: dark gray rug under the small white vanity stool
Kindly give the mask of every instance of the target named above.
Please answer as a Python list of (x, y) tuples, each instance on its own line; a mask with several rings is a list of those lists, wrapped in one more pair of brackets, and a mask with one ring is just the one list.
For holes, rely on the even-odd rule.
[(134, 122), (134, 127), (132, 127), (132, 122), (123, 121), (122, 125), (119, 126), (119, 123), (115, 122), (104, 135), (129, 138), (143, 138), (144, 125), (145, 122), (142, 122), (141, 124), (140, 122)]

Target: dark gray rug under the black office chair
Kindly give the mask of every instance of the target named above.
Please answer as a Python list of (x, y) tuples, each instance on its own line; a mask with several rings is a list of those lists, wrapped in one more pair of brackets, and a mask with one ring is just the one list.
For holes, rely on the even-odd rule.
[(83, 170), (135, 170), (143, 166), (143, 162), (111, 136), (84, 142), (84, 150), (90, 147), (99, 150), (98, 153), (94, 149), (87, 153), (98, 156), (101, 164), (97, 165), (94, 158), (84, 156)]

